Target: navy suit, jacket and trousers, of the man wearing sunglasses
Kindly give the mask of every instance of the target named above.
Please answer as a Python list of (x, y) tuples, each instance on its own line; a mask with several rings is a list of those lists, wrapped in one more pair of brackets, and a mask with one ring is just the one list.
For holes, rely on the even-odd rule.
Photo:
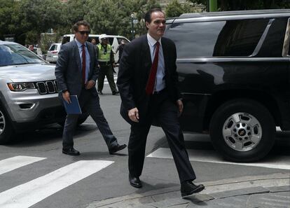
[[(90, 71), (88, 81), (97, 80), (99, 69), (97, 68), (96, 49), (92, 43), (86, 42), (88, 52), (90, 54)], [(76, 41), (71, 41), (62, 45), (58, 54), (57, 64), (55, 67), (55, 76), (57, 78), (57, 87), (60, 99), (62, 98), (62, 90), (69, 90), (70, 95), (77, 95), (81, 109), (87, 111), (99, 128), (108, 148), (117, 145), (117, 139), (113, 136), (111, 129), (104, 118), (103, 111), (99, 106), (99, 96), (94, 87), (89, 90), (85, 89), (81, 74), (81, 58), (79, 55)], [(62, 136), (63, 148), (71, 148), (74, 146), (73, 135), (78, 115), (69, 114), (64, 123), (64, 132)]]

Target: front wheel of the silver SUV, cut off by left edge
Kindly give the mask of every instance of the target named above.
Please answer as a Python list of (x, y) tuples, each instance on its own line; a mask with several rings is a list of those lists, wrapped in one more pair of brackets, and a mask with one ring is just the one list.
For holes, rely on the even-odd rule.
[(8, 116), (0, 108), (0, 144), (6, 144), (13, 135), (13, 128)]

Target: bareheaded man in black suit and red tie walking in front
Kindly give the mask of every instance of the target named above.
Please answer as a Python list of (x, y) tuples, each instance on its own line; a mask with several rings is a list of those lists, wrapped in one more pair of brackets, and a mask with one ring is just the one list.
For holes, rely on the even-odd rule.
[(195, 185), (195, 172), (184, 146), (178, 121), (183, 104), (177, 89), (176, 48), (163, 38), (165, 14), (159, 8), (145, 15), (148, 34), (128, 43), (118, 71), (118, 89), (122, 99), (120, 113), (131, 124), (128, 144), (130, 185), (141, 188), (146, 137), (153, 122), (165, 132), (181, 182), (181, 195), (205, 188)]

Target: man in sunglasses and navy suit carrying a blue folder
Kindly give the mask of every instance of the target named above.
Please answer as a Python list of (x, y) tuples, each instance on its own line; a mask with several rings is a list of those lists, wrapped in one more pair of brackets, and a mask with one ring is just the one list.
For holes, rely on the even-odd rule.
[[(92, 119), (95, 120), (109, 148), (109, 153), (116, 153), (116, 151), (125, 148), (126, 145), (118, 144), (99, 106), (99, 96), (95, 88), (99, 72), (97, 54), (95, 46), (87, 41), (90, 25), (88, 22), (79, 21), (76, 22), (73, 29), (75, 39), (62, 45), (55, 67), (60, 99), (69, 103), (71, 102), (69, 95), (77, 95), (81, 108), (87, 111), (92, 116)], [(74, 149), (73, 141), (77, 120), (77, 114), (69, 114), (65, 120), (62, 136), (62, 153), (64, 154), (80, 154)]]

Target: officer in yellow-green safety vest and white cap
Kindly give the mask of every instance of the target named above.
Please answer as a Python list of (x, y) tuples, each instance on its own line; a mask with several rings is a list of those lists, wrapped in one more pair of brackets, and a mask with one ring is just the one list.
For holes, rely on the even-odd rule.
[(99, 62), (99, 78), (97, 79), (97, 91), (99, 95), (103, 95), (104, 78), (109, 82), (109, 86), (112, 91), (112, 95), (117, 95), (119, 91), (116, 88), (115, 81), (113, 79), (113, 67), (116, 67), (115, 59), (113, 57), (113, 50), (108, 43), (106, 34), (99, 36), (99, 44), (97, 44), (97, 61)]

